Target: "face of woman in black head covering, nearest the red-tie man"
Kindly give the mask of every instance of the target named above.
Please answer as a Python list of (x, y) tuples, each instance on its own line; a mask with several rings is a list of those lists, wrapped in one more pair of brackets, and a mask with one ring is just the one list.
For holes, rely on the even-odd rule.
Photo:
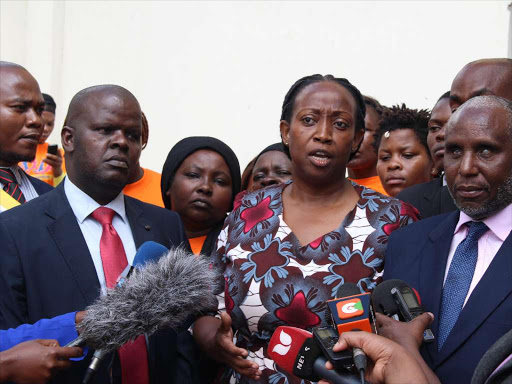
[(185, 229), (199, 231), (224, 218), (231, 206), (231, 184), (224, 158), (215, 151), (201, 149), (181, 163), (166, 194)]

